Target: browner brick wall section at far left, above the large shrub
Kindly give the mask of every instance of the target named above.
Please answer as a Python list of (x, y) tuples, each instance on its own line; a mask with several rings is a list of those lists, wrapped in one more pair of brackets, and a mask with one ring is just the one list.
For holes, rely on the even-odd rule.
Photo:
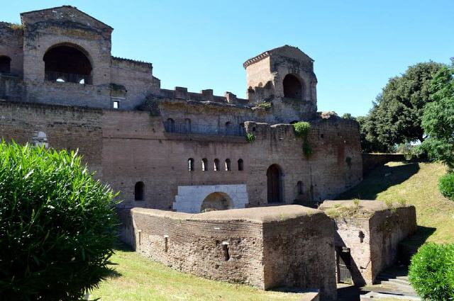
[(102, 111), (0, 101), (0, 137), (20, 144), (47, 143), (55, 149), (79, 150), (90, 169), (102, 177)]

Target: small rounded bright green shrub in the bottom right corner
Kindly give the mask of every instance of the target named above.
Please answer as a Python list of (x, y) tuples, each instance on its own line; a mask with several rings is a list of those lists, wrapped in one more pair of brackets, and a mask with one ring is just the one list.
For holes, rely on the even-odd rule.
[(409, 280), (423, 300), (453, 300), (454, 244), (424, 244), (411, 258)]

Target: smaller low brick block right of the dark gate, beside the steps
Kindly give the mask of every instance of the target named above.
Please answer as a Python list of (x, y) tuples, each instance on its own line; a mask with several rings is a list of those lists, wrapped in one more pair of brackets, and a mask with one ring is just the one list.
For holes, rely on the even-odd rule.
[[(353, 206), (351, 200), (325, 201), (320, 209), (333, 206)], [(388, 266), (397, 261), (398, 244), (416, 231), (414, 206), (394, 204), (389, 210), (384, 203), (361, 200), (360, 207), (367, 212), (362, 217), (338, 216), (336, 222), (336, 249), (350, 249), (353, 283), (371, 285)], [(326, 211), (328, 212), (328, 211)]]

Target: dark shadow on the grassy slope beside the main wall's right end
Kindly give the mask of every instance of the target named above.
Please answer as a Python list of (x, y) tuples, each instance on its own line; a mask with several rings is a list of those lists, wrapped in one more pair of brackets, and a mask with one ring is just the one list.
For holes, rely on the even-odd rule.
[(370, 171), (364, 180), (345, 193), (341, 193), (336, 200), (375, 200), (377, 195), (389, 187), (398, 185), (419, 171), (418, 162), (408, 162), (400, 166), (380, 166)]

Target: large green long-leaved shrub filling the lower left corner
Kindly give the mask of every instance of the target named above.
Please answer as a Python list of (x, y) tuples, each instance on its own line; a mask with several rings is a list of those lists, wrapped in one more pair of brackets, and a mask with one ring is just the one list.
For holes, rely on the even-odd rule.
[(0, 142), (2, 300), (82, 300), (110, 273), (108, 186), (74, 152)]

